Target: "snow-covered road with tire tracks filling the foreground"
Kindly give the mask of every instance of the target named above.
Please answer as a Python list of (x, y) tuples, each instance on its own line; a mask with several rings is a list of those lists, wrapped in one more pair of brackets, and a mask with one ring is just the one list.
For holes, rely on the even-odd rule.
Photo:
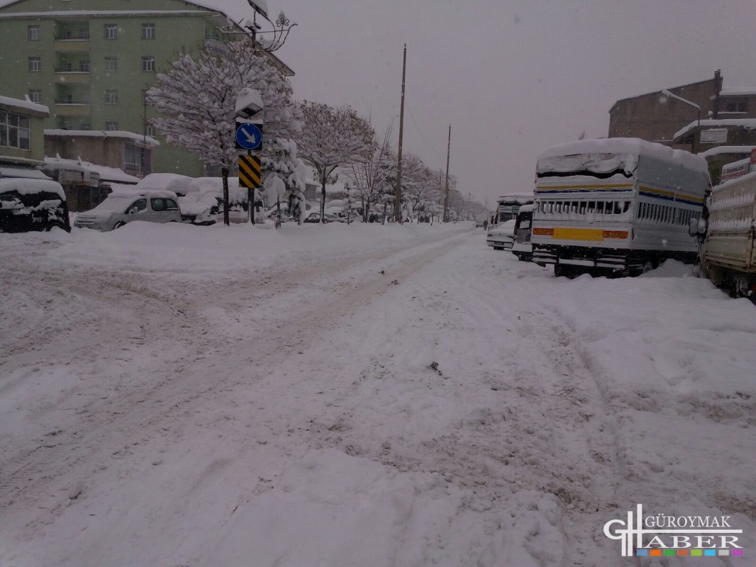
[(624, 565), (636, 503), (756, 553), (747, 300), (459, 225), (198, 230), (3, 237), (0, 565)]

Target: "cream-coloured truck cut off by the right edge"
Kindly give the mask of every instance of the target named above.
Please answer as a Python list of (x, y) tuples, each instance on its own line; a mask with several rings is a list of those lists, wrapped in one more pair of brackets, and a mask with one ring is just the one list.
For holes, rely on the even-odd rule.
[(731, 296), (756, 302), (756, 171), (714, 187), (702, 222), (691, 222), (689, 232), (703, 241), (703, 274)]

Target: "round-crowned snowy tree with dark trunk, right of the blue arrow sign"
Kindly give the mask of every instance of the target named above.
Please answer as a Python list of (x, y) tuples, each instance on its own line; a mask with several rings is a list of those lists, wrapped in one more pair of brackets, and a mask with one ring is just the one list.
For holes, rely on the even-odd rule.
[(321, 222), (326, 206), (326, 184), (335, 180), (336, 169), (367, 160), (373, 151), (375, 132), (370, 122), (349, 106), (302, 101), (302, 133), (297, 138), (299, 156), (318, 174), (321, 184)]

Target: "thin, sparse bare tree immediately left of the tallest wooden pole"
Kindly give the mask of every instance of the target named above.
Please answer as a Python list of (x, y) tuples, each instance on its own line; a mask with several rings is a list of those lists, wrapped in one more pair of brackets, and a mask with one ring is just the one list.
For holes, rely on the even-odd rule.
[(370, 156), (358, 163), (352, 163), (347, 175), (352, 180), (355, 198), (362, 205), (362, 220), (370, 218), (370, 206), (380, 204), (386, 185), (395, 180), (396, 154), (392, 147), (393, 124), (389, 123), (383, 138), (373, 138)]

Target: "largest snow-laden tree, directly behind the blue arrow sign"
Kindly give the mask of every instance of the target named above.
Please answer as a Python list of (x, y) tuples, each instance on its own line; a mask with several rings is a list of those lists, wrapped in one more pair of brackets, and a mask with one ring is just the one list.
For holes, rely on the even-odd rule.
[[(147, 104), (162, 117), (151, 123), (169, 143), (191, 150), (209, 166), (221, 168), (225, 203), (228, 172), (236, 166), (239, 155), (234, 130), (236, 98), (242, 88), (258, 91), (264, 104), (262, 119), (268, 143), (263, 144), (263, 156), (275, 160), (276, 144), (270, 142), (279, 138), (288, 141), (299, 134), (299, 110), (291, 100), (290, 82), (249, 39), (225, 42), (221, 48), (203, 46), (196, 57), (184, 52), (168, 73), (159, 73), (156, 79), (157, 86), (147, 91)], [(267, 175), (264, 170), (263, 177), (271, 172), (277, 172), (276, 167), (269, 167)], [(287, 179), (281, 181), (288, 184)], [(275, 181), (269, 184), (280, 188)]]

